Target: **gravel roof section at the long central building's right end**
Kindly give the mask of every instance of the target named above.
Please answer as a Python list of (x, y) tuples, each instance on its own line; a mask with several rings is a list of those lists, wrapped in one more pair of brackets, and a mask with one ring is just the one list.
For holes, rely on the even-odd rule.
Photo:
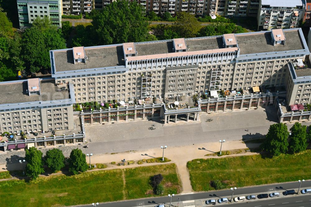
[(304, 49), (298, 30), (284, 30), (285, 44), (272, 45), (271, 31), (259, 34), (235, 34), (240, 54), (281, 52)]

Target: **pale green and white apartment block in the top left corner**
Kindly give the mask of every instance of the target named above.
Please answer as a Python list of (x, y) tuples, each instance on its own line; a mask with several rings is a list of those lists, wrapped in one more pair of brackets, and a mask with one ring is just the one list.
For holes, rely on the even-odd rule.
[(20, 29), (31, 26), (37, 17), (48, 16), (52, 26), (62, 26), (62, 0), (17, 0)]

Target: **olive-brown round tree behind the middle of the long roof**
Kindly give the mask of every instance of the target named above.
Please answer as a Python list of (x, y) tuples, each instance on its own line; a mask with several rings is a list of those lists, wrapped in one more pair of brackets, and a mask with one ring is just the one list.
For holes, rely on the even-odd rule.
[(177, 13), (177, 20), (174, 23), (175, 31), (183, 38), (196, 37), (200, 30), (200, 23), (194, 15), (187, 12)]

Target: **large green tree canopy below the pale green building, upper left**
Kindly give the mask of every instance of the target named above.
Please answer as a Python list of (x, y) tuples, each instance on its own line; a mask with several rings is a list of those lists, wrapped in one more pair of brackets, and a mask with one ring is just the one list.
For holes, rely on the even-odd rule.
[(42, 19), (42, 23), (39, 23), (40, 19), (36, 21), (35, 25), (25, 30), (21, 41), (21, 55), (26, 62), (26, 69), (30, 72), (50, 67), (49, 50), (66, 48), (61, 30), (50, 29), (45, 23), (46, 19)]

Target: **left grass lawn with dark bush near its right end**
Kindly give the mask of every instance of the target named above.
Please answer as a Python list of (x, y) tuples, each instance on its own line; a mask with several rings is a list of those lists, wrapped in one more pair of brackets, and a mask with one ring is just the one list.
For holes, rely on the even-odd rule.
[[(0, 182), (1, 206), (68, 206), (148, 197), (149, 178), (162, 173), (167, 192), (180, 191), (176, 166), (101, 170), (76, 176), (39, 177), (35, 181)], [(165, 192), (166, 193), (166, 192)], [(14, 200), (14, 202), (12, 202)]]

